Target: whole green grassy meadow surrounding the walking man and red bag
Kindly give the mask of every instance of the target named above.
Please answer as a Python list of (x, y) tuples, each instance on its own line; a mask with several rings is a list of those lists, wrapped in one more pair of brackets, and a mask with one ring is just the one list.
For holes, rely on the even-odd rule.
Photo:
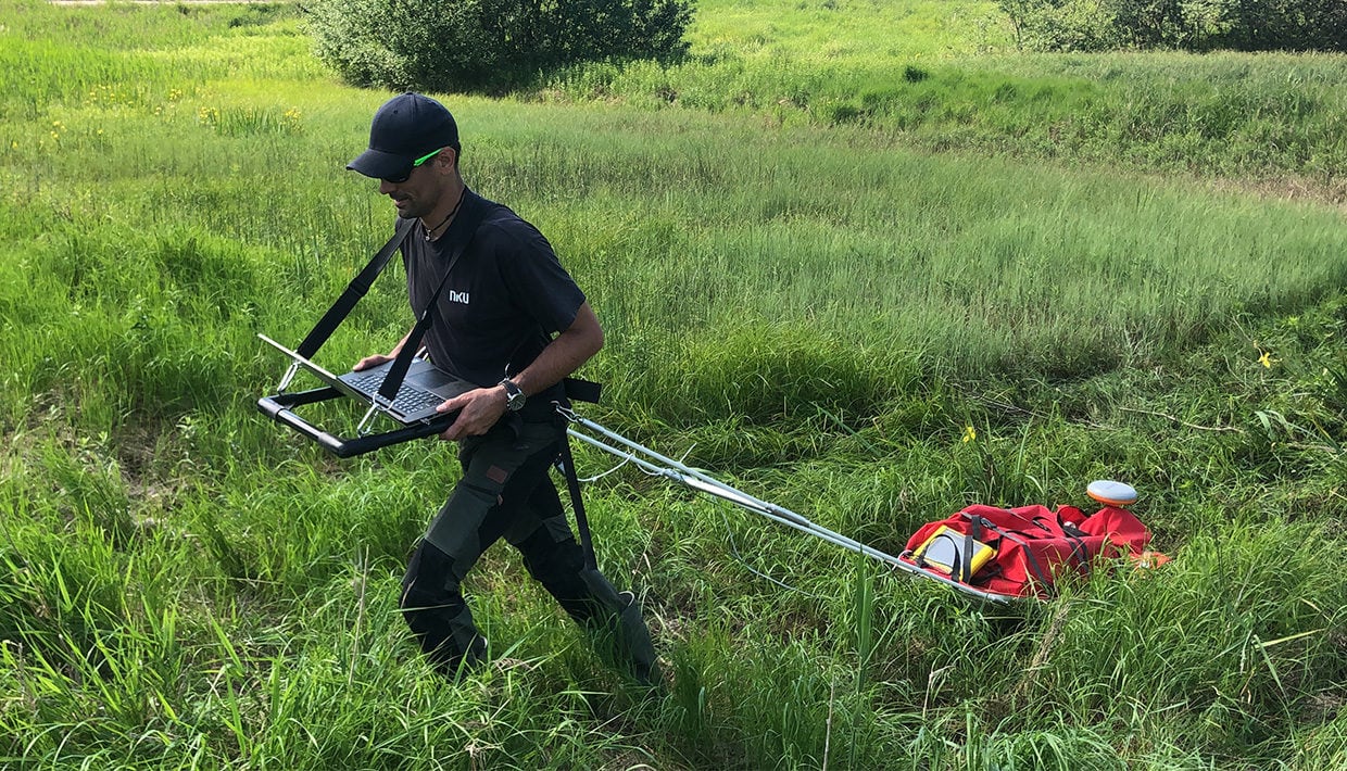
[[(706, 0), (691, 40), (436, 94), (605, 326), (583, 414), (889, 553), (1121, 479), (1172, 560), (986, 604), (581, 448), (665, 688), (505, 546), (446, 682), (397, 593), (453, 448), (255, 409), (256, 335), (389, 234), (343, 170), (389, 94), (290, 4), (19, 0), (0, 767), (1347, 768), (1347, 58), (1028, 55), (973, 0)], [(329, 369), (408, 328), (389, 273)]]

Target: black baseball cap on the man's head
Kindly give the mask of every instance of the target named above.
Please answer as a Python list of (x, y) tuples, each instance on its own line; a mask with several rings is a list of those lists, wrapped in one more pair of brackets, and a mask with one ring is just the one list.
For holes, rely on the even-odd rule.
[(412, 161), (442, 147), (458, 149), (458, 124), (445, 105), (423, 94), (397, 94), (374, 113), (369, 149), (346, 164), (374, 179), (399, 179)]

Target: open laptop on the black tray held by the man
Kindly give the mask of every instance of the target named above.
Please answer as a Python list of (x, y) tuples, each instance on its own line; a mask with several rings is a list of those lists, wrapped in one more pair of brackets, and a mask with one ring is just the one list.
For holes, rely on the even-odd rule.
[(403, 379), (403, 385), (397, 389), (397, 396), (393, 397), (392, 404), (385, 404), (384, 400), (379, 397), (379, 386), (384, 385), (384, 377), (388, 374), (388, 370), (392, 369), (393, 362), (389, 361), (368, 370), (334, 375), (318, 363), (299, 355), (298, 351), (287, 348), (267, 335), (259, 334), (257, 336), (290, 357), (294, 362), (290, 371), (286, 373), (286, 378), (282, 381), (280, 390), (286, 390), (286, 386), (290, 385), (290, 378), (294, 375), (296, 367), (304, 369), (313, 373), (318, 379), (352, 398), (370, 405), (383, 405), (380, 406), (380, 412), (404, 424), (422, 423), (440, 417), (442, 413), (435, 412), (436, 406), (461, 393), (467, 393), (477, 388), (470, 382), (455, 378), (454, 375), (430, 363), (427, 359), (415, 358), (412, 359), (411, 367), (407, 370), (407, 377)]

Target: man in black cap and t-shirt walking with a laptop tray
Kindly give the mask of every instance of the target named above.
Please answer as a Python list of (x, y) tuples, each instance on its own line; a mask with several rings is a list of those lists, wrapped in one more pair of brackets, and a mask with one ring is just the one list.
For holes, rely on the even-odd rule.
[[(458, 410), (440, 437), (459, 443), (463, 474), (412, 554), (404, 618), (446, 674), (482, 662), (486, 640), (461, 585), (504, 537), (562, 608), (599, 632), (605, 654), (652, 684), (659, 667), (640, 608), (586, 566), (548, 476), (566, 441), (555, 409), (566, 401), (562, 381), (599, 350), (603, 332), (541, 233), (465, 186), (459, 153), (449, 110), (405, 93), (379, 108), (369, 149), (346, 167), (379, 179), (397, 217), (415, 219), (401, 244), (414, 314), (445, 283), (424, 346), (439, 367), (480, 386), (439, 406)], [(395, 358), (408, 336), (356, 369)]]

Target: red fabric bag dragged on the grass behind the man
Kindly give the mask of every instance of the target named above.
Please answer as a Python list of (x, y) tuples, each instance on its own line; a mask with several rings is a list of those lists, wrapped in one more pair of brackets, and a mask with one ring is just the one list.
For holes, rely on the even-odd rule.
[[(940, 527), (947, 531), (936, 534)], [(942, 565), (925, 560), (935, 548), (929, 540), (948, 538), (952, 530), (995, 550), (994, 556), (970, 571), (966, 565)], [(1098, 558), (1130, 556), (1141, 558), (1150, 531), (1126, 509), (1105, 506), (1086, 517), (1075, 506), (1056, 511), (1045, 506), (997, 509), (974, 505), (939, 522), (928, 522), (908, 540), (898, 556), (917, 568), (948, 576), (977, 589), (1012, 597), (1052, 595), (1063, 572), (1088, 573)], [(959, 545), (963, 549), (963, 545)], [(968, 554), (974, 549), (967, 549)], [(958, 561), (958, 560), (955, 560)]]

